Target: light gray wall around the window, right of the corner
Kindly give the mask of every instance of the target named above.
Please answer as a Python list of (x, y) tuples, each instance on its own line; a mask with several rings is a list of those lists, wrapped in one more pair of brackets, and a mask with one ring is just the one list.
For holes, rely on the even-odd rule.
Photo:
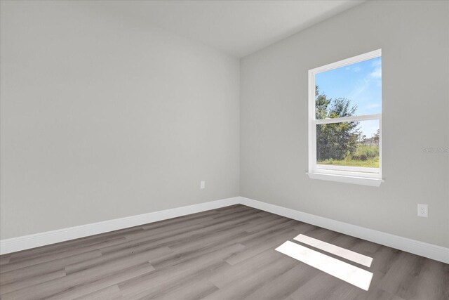
[[(370, 1), (241, 60), (241, 195), (449, 247), (449, 2)], [(380, 188), (307, 177), (307, 71), (382, 48)], [(417, 217), (429, 204), (429, 218)]]

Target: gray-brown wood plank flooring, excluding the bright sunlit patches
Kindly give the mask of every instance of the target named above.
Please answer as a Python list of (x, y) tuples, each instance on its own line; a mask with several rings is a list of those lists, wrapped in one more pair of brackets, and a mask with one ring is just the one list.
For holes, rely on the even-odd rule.
[[(372, 272), (368, 292), (274, 250), (300, 233), (372, 257), (303, 244)], [(449, 265), (234, 205), (5, 254), (0, 298), (449, 299)]]

